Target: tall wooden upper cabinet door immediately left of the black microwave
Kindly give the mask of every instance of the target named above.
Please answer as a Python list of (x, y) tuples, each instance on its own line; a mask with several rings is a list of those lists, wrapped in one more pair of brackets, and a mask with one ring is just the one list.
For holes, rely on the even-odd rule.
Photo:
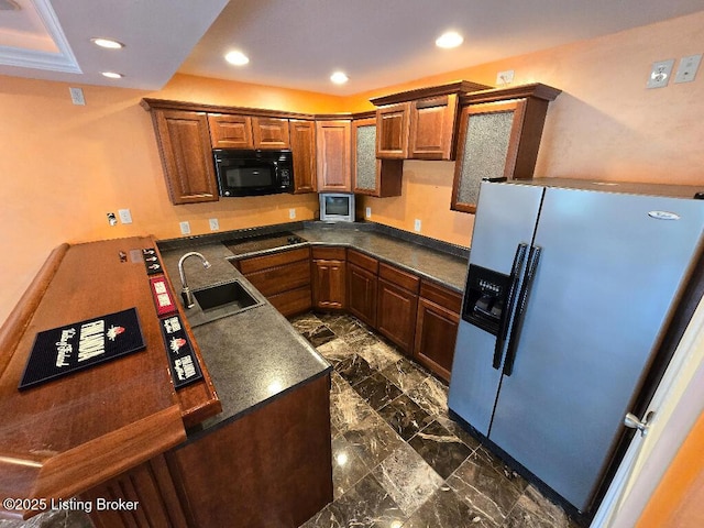
[(152, 110), (172, 204), (217, 201), (215, 164), (202, 112)]

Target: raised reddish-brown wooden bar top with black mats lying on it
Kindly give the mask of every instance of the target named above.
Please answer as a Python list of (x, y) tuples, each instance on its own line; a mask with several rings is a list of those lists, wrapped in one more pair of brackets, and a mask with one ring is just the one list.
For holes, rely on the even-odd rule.
[[(0, 517), (38, 513), (7, 509), (8, 497), (67, 499), (178, 444), (187, 426), (220, 411), (183, 314), (204, 380), (174, 388), (146, 248), (156, 248), (153, 238), (65, 244), (0, 329)], [(129, 308), (144, 350), (18, 389), (37, 332)]]

